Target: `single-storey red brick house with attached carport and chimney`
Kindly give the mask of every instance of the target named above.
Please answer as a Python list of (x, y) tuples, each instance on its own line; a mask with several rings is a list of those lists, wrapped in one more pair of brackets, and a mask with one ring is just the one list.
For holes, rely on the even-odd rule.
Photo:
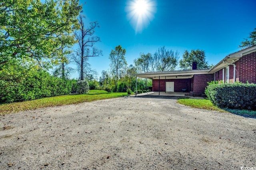
[(202, 96), (207, 82), (222, 80), (226, 83), (236, 81), (256, 83), (256, 46), (229, 54), (210, 70), (192, 70), (165, 72), (146, 72), (135, 74), (136, 78), (152, 79), (153, 92), (190, 92)]

